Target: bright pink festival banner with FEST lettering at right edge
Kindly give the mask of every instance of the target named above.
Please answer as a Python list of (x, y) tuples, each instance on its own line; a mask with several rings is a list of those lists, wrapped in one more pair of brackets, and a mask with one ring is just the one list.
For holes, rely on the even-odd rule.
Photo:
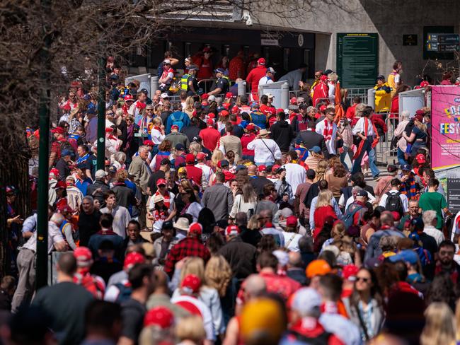
[(432, 86), (431, 161), (433, 170), (460, 165), (460, 86)]

